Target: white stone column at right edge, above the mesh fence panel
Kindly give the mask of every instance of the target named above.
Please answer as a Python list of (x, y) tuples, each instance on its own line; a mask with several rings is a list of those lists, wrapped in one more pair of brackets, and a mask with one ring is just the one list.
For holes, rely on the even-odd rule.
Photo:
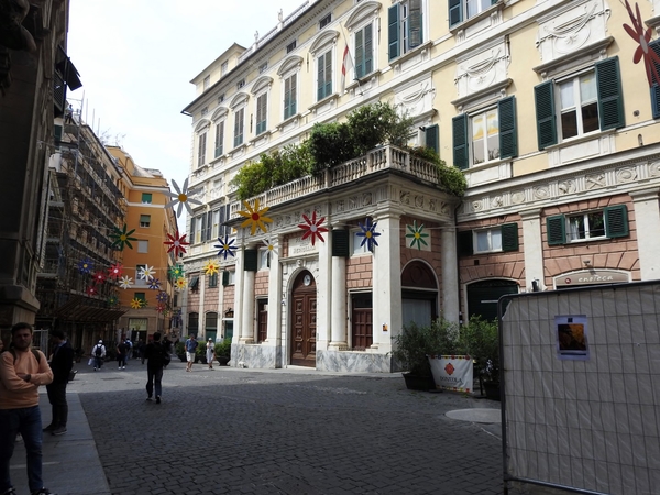
[(660, 278), (660, 205), (657, 187), (630, 193), (635, 205), (637, 224), (637, 249), (639, 251), (639, 272), (642, 280)]

